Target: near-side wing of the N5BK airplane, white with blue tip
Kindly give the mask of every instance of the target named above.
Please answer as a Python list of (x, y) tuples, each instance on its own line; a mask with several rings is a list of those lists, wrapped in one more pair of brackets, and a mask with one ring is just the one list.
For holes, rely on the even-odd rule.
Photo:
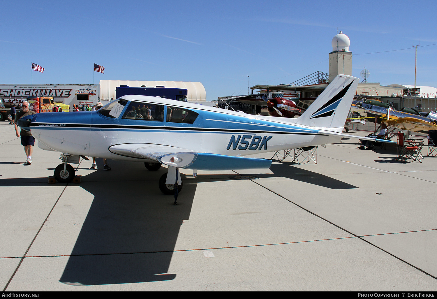
[(149, 159), (167, 166), (195, 170), (232, 170), (269, 168), (271, 160), (197, 153), (188, 149), (150, 143), (125, 143), (109, 147), (111, 153)]

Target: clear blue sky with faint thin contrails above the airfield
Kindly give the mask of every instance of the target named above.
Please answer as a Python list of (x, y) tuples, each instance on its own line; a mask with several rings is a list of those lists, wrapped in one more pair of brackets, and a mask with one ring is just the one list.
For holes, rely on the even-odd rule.
[[(3, 1), (0, 83), (199, 81), (207, 100), (328, 72), (350, 38), (352, 75), (437, 87), (435, 1)], [(397, 49), (393, 52), (365, 54)], [(364, 55), (359, 55), (364, 54)], [(45, 68), (31, 72), (31, 62)], [(93, 72), (93, 63), (105, 73)], [(247, 76), (250, 76), (249, 78)]]

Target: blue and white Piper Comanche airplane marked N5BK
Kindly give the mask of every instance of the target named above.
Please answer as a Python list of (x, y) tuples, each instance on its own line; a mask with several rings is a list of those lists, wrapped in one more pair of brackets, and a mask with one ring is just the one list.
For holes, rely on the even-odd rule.
[(168, 172), (159, 187), (176, 198), (182, 188), (179, 168), (193, 170), (192, 177), (198, 170), (269, 168), (271, 160), (244, 156), (357, 138), (342, 134), (357, 84), (358, 78), (336, 76), (299, 118), (126, 95), (97, 111), (37, 113), (17, 124), (31, 131), (40, 148), (62, 153), (64, 163), (55, 169), (60, 182), (73, 180), (75, 171), (68, 162), (79, 163), (79, 156), (144, 162), (148, 170), (165, 164)]

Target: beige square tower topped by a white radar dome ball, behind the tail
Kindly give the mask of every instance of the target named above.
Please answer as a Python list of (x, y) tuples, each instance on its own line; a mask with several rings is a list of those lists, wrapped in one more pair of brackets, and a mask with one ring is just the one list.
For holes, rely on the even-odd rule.
[(329, 53), (329, 82), (339, 74), (352, 75), (352, 52), (350, 40), (341, 31), (332, 39), (332, 52)]

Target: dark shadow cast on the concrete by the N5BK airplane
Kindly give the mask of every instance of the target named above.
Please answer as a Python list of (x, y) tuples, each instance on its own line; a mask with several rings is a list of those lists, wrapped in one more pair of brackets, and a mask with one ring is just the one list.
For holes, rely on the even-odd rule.
[[(110, 172), (98, 170), (83, 176), (78, 185), (94, 199), (59, 281), (106, 285), (174, 279), (176, 274), (168, 270), (180, 226), (189, 219), (197, 183), (235, 176), (200, 174), (195, 179), (183, 178), (178, 205), (173, 206), (173, 196), (163, 195), (157, 187), (166, 168), (148, 171), (142, 163), (121, 161), (111, 161), (111, 167)], [(272, 164), (270, 170), (273, 174), (253, 176), (288, 177), (331, 189), (357, 188), (289, 163)], [(46, 182), (43, 177), (0, 179), (3, 186), (30, 183), (49, 187)]]

